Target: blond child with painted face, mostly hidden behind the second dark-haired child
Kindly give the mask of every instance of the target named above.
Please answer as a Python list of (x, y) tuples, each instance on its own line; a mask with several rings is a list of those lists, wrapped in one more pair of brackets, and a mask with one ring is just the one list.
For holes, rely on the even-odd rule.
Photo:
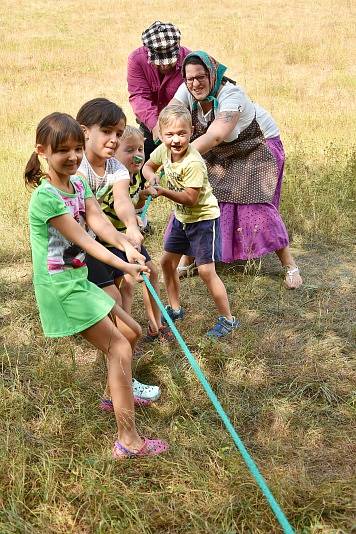
[[(144, 163), (144, 136), (142, 132), (133, 126), (126, 126), (121, 138), (118, 148), (116, 149), (117, 159), (125, 165), (130, 174), (130, 186), (129, 194), (131, 201), (136, 209), (139, 222), (143, 227), (145, 221), (141, 221), (140, 212), (143, 209), (146, 198), (148, 196), (147, 189), (141, 189), (141, 174), (140, 170)], [(118, 230), (124, 231), (125, 224), (122, 221), (116, 221), (115, 226)], [(155, 264), (149, 260), (146, 261), (146, 265), (151, 270), (150, 280), (154, 286), (156, 292), (159, 294), (158, 284), (158, 270)], [(131, 277), (132, 278), (132, 277)], [(120, 293), (122, 297), (123, 308), (130, 313), (133, 301), (133, 291), (135, 282), (130, 280), (130, 277), (124, 275), (123, 282), (120, 285)], [(167, 326), (161, 323), (161, 312), (154, 299), (151, 297), (146, 286), (143, 287), (143, 299), (146, 309), (146, 315), (148, 319), (147, 335), (144, 338), (145, 341), (155, 341), (160, 339), (161, 341), (171, 341), (173, 336)]]

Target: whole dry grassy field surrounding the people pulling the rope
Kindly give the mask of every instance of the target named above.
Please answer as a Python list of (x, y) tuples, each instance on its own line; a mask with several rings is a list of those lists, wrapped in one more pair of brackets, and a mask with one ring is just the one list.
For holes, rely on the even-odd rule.
[[(127, 102), (126, 59), (156, 19), (213, 54), (276, 118), (288, 154), (282, 212), (302, 268), (283, 289), (274, 257), (220, 268), (243, 327), (218, 345), (214, 308), (183, 282), (181, 331), (297, 532), (355, 523), (355, 5), (349, 0), (3, 0), (0, 6), (0, 534), (274, 533), (279, 527), (178, 347), (143, 348), (162, 386), (139, 410), (164, 458), (115, 463), (98, 411), (100, 357), (45, 340), (31, 285), (22, 178), (35, 128), (89, 98)], [(160, 205), (162, 207), (162, 204)], [(169, 207), (152, 208), (159, 260)], [(144, 324), (137, 292), (135, 317)], [(192, 326), (193, 325), (193, 326)]]

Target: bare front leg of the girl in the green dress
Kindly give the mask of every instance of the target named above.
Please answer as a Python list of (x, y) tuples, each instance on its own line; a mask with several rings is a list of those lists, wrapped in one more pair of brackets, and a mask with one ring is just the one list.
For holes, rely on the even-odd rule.
[(132, 451), (139, 450), (143, 446), (143, 440), (135, 426), (130, 343), (109, 317), (105, 317), (81, 334), (107, 356), (108, 382), (117, 423), (118, 440)]

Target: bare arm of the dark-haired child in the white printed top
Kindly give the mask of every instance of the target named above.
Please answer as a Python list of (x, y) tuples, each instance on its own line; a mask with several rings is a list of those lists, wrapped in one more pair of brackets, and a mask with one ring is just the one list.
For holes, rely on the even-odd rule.
[(113, 185), (114, 210), (126, 226), (127, 239), (134, 247), (140, 247), (143, 236), (137, 226), (135, 207), (129, 195), (129, 182), (120, 180)]

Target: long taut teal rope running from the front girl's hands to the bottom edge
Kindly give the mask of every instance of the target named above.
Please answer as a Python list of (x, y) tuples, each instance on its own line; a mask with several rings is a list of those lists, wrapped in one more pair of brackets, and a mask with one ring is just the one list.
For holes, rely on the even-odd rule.
[(143, 280), (144, 280), (148, 290), (150, 291), (151, 295), (153, 296), (154, 300), (156, 301), (157, 306), (161, 310), (161, 313), (162, 313), (163, 317), (165, 318), (169, 328), (172, 330), (172, 332), (173, 332), (176, 340), (178, 341), (179, 345), (181, 346), (185, 356), (188, 358), (188, 361), (189, 361), (190, 365), (192, 366), (194, 373), (196, 374), (198, 380), (200, 381), (201, 385), (205, 389), (209, 399), (213, 403), (213, 406), (214, 406), (215, 410), (217, 411), (218, 415), (220, 416), (220, 419), (222, 420), (222, 422), (226, 426), (226, 428), (227, 428), (230, 436), (232, 437), (237, 449), (240, 451), (241, 456), (242, 456), (245, 464), (247, 465), (248, 469), (250, 470), (250, 473), (252, 474), (252, 476), (256, 480), (258, 486), (260, 487), (262, 493), (266, 497), (270, 507), (272, 508), (272, 510), (273, 510), (278, 522), (279, 522), (279, 524), (281, 525), (281, 527), (283, 529), (283, 532), (285, 532), (286, 534), (294, 534), (294, 530), (292, 529), (291, 525), (289, 524), (288, 519), (284, 515), (284, 513), (283, 513), (282, 509), (280, 508), (279, 504), (277, 503), (276, 499), (273, 497), (272, 492), (269, 489), (269, 487), (267, 486), (265, 479), (263, 478), (263, 476), (259, 472), (257, 465), (252, 460), (252, 458), (249, 455), (245, 445), (243, 444), (243, 441), (240, 439), (240, 437), (237, 434), (235, 428), (233, 427), (230, 419), (226, 415), (226, 413), (224, 411), (224, 408), (221, 406), (217, 396), (215, 395), (215, 393), (212, 390), (209, 382), (205, 378), (205, 375), (204, 375), (203, 371), (200, 369), (198, 362), (196, 361), (196, 359), (194, 358), (193, 354), (188, 349), (184, 339), (182, 338), (182, 336), (178, 332), (178, 330), (177, 330), (175, 324), (173, 323), (172, 319), (169, 317), (169, 315), (168, 315), (165, 307), (163, 306), (159, 296), (157, 295), (154, 287), (152, 286), (151, 282), (149, 281), (149, 279), (147, 278), (147, 276), (144, 273), (142, 273), (142, 277), (143, 277)]

